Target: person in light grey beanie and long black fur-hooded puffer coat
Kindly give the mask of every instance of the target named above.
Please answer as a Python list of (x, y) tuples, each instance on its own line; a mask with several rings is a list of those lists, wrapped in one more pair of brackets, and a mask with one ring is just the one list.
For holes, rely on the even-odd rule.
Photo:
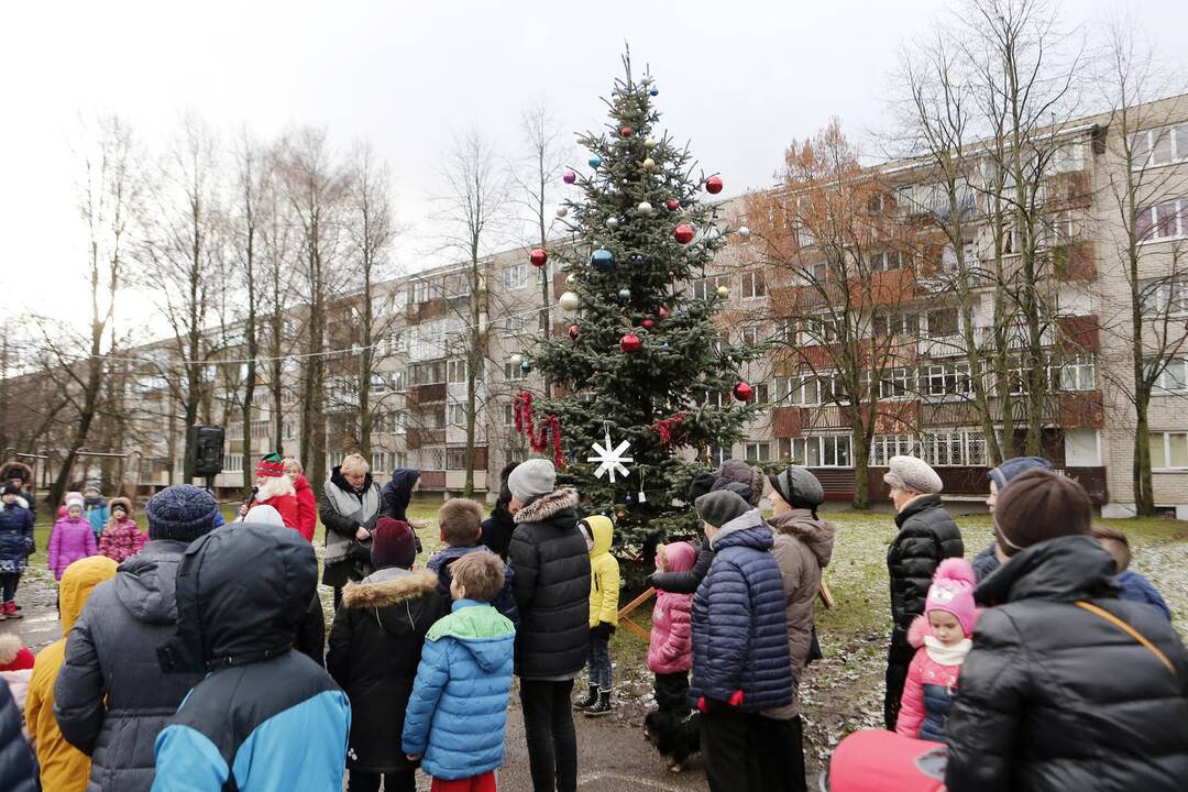
[(590, 559), (577, 530), (577, 493), (555, 489), (548, 460), (529, 460), (508, 477), (516, 533), (508, 556), (520, 622), (516, 673), (532, 786), (577, 787), (577, 737), (570, 696), (589, 651)]

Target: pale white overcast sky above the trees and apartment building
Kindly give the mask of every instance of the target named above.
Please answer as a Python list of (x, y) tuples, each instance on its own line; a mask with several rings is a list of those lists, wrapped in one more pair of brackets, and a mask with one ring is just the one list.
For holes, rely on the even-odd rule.
[[(665, 126), (726, 195), (771, 180), (783, 147), (840, 115), (855, 133), (885, 113), (898, 49), (956, 5), (941, 0), (5, 4), (0, 40), (0, 289), (6, 313), (57, 303), (86, 316), (84, 229), (67, 141), (80, 114), (115, 112), (160, 148), (182, 113), (271, 137), (329, 129), (369, 140), (394, 176), (405, 270), (428, 249), (451, 135), (478, 126), (508, 154), (525, 104), (564, 127), (602, 122), (619, 56), (650, 64)], [(1068, 0), (1069, 24), (1117, 2)], [(1188, 2), (1137, 4), (1184, 71)], [(129, 313), (141, 306), (128, 306)]]

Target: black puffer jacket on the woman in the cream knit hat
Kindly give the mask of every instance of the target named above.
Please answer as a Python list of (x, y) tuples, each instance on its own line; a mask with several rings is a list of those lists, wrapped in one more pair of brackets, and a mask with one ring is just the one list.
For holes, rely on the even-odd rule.
[[(892, 647), (905, 647), (911, 661), (915, 651), (908, 644), (911, 620), (924, 613), (928, 587), (936, 566), (944, 558), (961, 557), (961, 531), (941, 506), (940, 495), (923, 495), (895, 515), (899, 533), (887, 549), (891, 574)], [(906, 664), (905, 664), (906, 666)]]

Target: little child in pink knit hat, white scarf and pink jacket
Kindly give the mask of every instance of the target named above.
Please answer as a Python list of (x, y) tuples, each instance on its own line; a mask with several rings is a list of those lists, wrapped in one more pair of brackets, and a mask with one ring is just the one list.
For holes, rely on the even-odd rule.
[(896, 731), (905, 737), (946, 742), (944, 722), (953, 705), (961, 664), (973, 648), (973, 566), (963, 558), (946, 558), (936, 568), (924, 602), (924, 615), (916, 616), (908, 641), (917, 647), (908, 667)]

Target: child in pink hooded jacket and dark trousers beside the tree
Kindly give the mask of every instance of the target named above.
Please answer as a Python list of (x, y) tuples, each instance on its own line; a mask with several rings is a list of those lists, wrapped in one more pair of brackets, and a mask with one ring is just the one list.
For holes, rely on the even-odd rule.
[[(684, 572), (693, 569), (697, 551), (688, 541), (656, 549), (657, 572)], [(644, 727), (649, 740), (668, 756), (669, 769), (683, 768), (691, 753), (689, 734), (689, 669), (693, 667), (693, 595), (657, 591), (652, 608), (652, 636), (647, 645), (647, 667), (656, 674), (657, 709), (647, 714)], [(694, 724), (696, 726), (696, 724)]]

